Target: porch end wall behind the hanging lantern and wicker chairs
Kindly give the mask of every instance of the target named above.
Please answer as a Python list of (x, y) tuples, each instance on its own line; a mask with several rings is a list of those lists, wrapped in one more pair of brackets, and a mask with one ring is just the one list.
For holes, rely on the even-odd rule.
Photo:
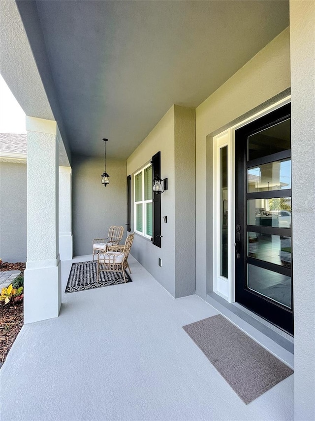
[(74, 256), (92, 254), (93, 239), (107, 237), (111, 225), (124, 226), (126, 239), (126, 161), (107, 159), (106, 171), (110, 184), (104, 187), (104, 160), (72, 155)]

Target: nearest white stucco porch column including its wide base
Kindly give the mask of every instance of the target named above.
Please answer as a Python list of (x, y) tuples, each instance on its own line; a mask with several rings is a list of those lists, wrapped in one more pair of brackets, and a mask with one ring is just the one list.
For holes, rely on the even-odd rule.
[(24, 322), (58, 317), (61, 264), (58, 252), (59, 145), (56, 121), (26, 117), (28, 131), (28, 259), (24, 271)]

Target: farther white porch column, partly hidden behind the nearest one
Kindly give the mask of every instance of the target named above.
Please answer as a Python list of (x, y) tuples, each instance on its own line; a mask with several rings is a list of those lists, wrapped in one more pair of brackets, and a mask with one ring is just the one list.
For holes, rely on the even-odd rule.
[(72, 259), (71, 167), (59, 167), (59, 254)]

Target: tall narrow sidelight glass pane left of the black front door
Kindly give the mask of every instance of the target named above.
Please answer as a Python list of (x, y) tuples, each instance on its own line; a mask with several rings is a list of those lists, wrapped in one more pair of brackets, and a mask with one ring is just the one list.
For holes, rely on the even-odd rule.
[(221, 161), (221, 276), (227, 278), (227, 146), (220, 149)]

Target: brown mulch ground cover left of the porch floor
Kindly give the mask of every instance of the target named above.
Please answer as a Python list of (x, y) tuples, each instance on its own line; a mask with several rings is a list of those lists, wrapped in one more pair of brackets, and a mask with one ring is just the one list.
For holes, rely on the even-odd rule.
[[(0, 271), (4, 270), (25, 270), (25, 263), (6, 263), (0, 265)], [(0, 367), (16, 340), (18, 333), (23, 326), (23, 301), (14, 306), (8, 304), (0, 305)]]

